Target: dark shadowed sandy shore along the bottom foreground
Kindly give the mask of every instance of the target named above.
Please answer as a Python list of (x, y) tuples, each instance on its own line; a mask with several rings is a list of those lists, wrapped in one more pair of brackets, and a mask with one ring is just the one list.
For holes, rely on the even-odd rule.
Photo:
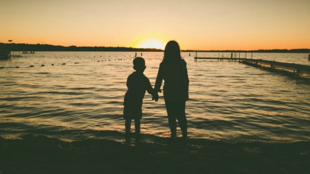
[(142, 140), (128, 145), (88, 139), (68, 143), (32, 135), (0, 139), (0, 174), (310, 174), (310, 142), (163, 142)]

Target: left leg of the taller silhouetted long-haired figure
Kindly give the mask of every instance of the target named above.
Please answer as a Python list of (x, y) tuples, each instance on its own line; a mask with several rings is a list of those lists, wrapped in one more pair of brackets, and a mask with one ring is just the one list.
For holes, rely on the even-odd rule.
[(174, 138), (176, 137), (176, 116), (175, 116), (175, 103), (172, 101), (166, 101), (166, 108), (167, 108), (167, 114), (168, 114), (168, 122), (169, 122), (169, 127), (171, 131), (171, 137)]

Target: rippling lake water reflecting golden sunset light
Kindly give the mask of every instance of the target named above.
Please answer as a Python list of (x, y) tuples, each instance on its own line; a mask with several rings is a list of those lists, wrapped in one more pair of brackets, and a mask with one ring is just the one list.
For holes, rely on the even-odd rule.
[[(5, 67), (0, 69), (1, 137), (31, 133), (63, 140), (122, 139), (122, 104), (134, 54), (36, 52), (0, 61)], [(162, 56), (143, 52), (144, 74), (152, 85)], [(183, 53), (190, 80), (186, 102), (190, 137), (228, 142), (310, 140), (309, 81), (233, 61), (196, 62), (193, 56)], [(310, 65), (308, 54), (255, 53), (253, 58)], [(170, 136), (162, 93), (160, 97), (154, 102), (145, 95), (141, 120), (145, 136)]]

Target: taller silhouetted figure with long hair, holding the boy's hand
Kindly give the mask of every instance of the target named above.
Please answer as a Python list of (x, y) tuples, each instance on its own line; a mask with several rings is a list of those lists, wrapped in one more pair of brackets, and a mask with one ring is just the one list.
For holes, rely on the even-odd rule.
[(163, 79), (171, 137), (176, 137), (176, 119), (178, 119), (183, 137), (187, 137), (185, 103), (188, 100), (189, 80), (186, 61), (181, 58), (180, 46), (175, 41), (169, 41), (165, 47), (164, 59), (159, 65), (155, 82), (156, 93), (160, 91)]

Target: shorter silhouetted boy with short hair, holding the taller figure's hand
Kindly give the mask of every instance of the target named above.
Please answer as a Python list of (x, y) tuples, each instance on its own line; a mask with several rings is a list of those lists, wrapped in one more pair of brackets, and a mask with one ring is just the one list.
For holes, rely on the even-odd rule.
[(150, 80), (143, 74), (146, 66), (145, 60), (137, 57), (133, 60), (134, 70), (127, 78), (128, 90), (124, 97), (124, 119), (126, 138), (130, 135), (131, 120), (135, 120), (136, 135), (140, 135), (140, 119), (142, 116), (142, 101), (145, 91), (152, 94), (152, 100), (157, 101), (157, 93), (153, 94)]

